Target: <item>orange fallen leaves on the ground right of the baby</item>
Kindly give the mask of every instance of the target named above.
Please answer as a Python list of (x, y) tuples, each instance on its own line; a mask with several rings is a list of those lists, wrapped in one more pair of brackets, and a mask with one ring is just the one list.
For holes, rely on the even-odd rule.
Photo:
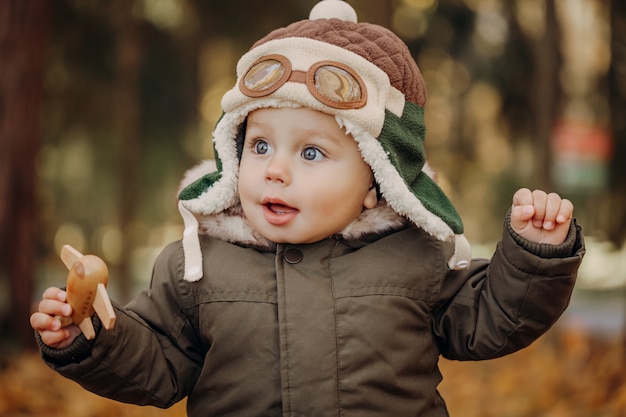
[(440, 391), (452, 417), (626, 416), (622, 337), (551, 331), (503, 358), (440, 365)]

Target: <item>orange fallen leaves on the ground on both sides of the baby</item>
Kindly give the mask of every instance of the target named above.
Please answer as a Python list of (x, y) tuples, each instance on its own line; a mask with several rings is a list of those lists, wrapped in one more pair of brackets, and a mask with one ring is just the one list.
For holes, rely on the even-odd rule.
[[(515, 354), (482, 362), (442, 360), (441, 393), (452, 417), (626, 416), (624, 340), (551, 331)], [(56, 374), (35, 352), (0, 371), (0, 417), (183, 417), (98, 397)]]

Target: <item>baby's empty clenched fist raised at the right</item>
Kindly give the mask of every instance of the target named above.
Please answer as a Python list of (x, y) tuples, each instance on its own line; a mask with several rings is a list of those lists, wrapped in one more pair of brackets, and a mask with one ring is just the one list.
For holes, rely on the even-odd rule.
[(569, 232), (574, 205), (556, 193), (527, 188), (513, 195), (511, 227), (524, 239), (559, 245)]

